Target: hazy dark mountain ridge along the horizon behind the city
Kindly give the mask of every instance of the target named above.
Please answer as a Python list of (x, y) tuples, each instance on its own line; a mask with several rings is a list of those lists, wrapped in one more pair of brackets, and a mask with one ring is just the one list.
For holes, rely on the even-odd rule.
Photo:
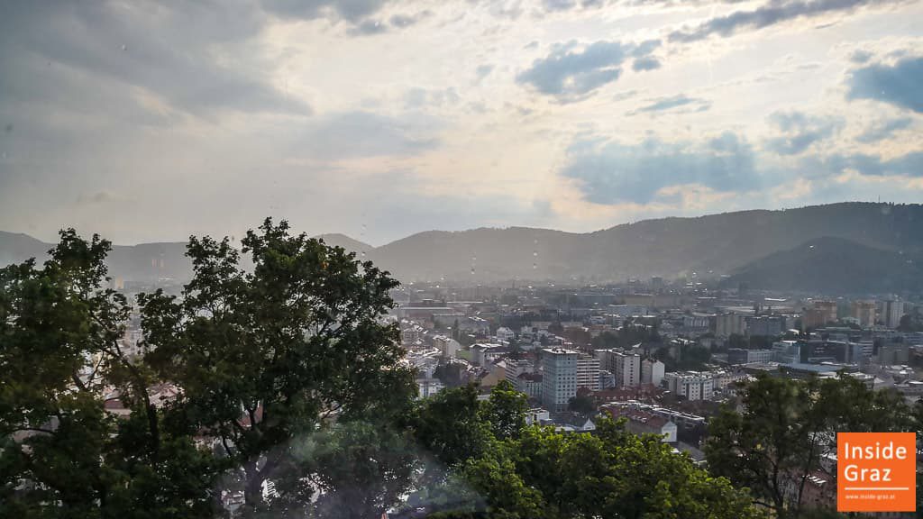
[[(321, 237), (330, 245), (365, 251), (366, 259), (403, 282), (605, 283), (651, 275), (674, 278), (690, 272), (739, 275), (739, 269), (754, 261), (821, 238), (914, 256), (923, 250), (921, 229), (919, 204), (844, 202), (645, 220), (586, 234), (528, 227), (426, 231), (381, 247), (346, 235)], [(0, 233), (0, 263), (42, 258), (50, 247), (28, 235)], [(847, 254), (850, 249), (843, 247)], [(186, 279), (185, 251), (182, 242), (116, 246), (110, 269), (124, 279)]]

